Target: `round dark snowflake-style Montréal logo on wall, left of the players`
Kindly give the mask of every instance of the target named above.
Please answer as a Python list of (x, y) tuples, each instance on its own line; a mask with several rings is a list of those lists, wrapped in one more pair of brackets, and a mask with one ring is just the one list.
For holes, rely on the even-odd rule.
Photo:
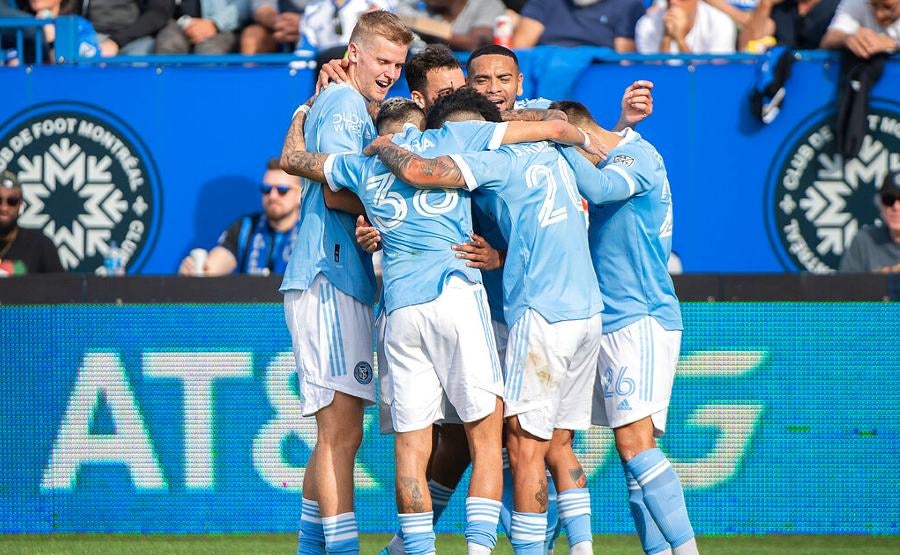
[(162, 199), (156, 166), (124, 122), (86, 104), (30, 108), (0, 128), (5, 169), (22, 185), (19, 224), (42, 229), (64, 268), (103, 273), (113, 243), (129, 272), (144, 265)]

